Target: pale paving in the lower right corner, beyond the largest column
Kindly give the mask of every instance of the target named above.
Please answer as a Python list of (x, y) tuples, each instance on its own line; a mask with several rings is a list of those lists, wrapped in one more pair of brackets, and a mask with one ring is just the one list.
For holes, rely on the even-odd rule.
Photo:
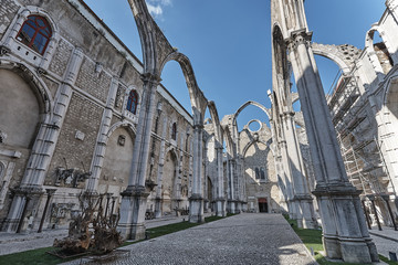
[(386, 226), (383, 226), (383, 231), (378, 231), (376, 226), (371, 227), (369, 233), (379, 254), (389, 257), (388, 253), (395, 252), (398, 255), (398, 231)]

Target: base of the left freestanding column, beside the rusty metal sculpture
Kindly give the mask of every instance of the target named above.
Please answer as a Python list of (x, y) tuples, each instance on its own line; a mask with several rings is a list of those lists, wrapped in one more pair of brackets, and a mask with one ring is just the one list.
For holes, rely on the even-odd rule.
[(149, 193), (145, 192), (145, 187), (127, 187), (121, 194), (121, 220), (117, 230), (124, 240), (144, 240), (145, 212)]

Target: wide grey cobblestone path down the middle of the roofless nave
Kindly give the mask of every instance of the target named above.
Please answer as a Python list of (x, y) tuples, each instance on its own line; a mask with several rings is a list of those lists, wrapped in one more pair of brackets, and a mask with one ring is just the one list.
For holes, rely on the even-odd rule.
[(130, 254), (102, 264), (316, 264), (280, 214), (239, 214), (123, 248)]

